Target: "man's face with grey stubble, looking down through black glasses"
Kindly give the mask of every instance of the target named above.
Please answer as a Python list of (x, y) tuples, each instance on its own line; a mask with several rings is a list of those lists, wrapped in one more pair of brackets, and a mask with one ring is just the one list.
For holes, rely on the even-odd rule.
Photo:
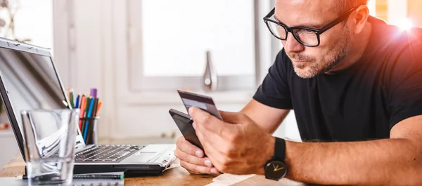
[[(321, 29), (340, 16), (334, 1), (338, 0), (276, 0), (274, 16), (288, 27)], [(316, 47), (302, 46), (290, 32), (281, 41), (299, 77), (312, 78), (328, 72), (345, 58), (351, 48), (350, 30), (345, 22), (321, 34), (321, 43)]]

